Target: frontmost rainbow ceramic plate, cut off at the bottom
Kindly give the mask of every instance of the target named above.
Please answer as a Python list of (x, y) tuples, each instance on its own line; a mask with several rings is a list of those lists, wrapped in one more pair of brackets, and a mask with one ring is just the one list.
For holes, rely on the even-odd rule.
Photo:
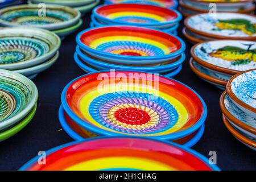
[[(38, 157), (19, 170), (220, 170), (201, 154), (171, 142), (143, 138), (94, 138), (72, 142), (46, 152), (46, 165)], [(76, 156), (76, 157), (75, 157)]]

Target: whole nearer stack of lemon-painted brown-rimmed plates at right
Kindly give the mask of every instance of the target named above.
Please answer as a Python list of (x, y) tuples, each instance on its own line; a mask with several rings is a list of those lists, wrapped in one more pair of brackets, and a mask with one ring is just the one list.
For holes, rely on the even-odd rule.
[(256, 43), (245, 40), (213, 40), (191, 49), (190, 67), (197, 76), (225, 90), (233, 75), (256, 68)]

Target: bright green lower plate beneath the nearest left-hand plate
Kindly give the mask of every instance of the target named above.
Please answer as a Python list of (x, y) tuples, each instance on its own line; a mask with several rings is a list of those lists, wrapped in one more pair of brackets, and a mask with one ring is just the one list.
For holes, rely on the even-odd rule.
[(13, 137), (15, 134), (19, 133), (19, 131), (24, 129), (24, 127), (26, 127), (28, 125), (28, 123), (30, 123), (30, 121), (34, 117), (35, 113), (36, 113), (36, 105), (30, 111), (30, 113), (28, 113), (26, 115), (26, 117), (24, 117), (22, 119), (22, 121), (20, 121), (17, 125), (11, 126), (10, 129), (7, 129), (5, 131), (0, 131), (0, 142), (2, 142), (3, 140), (8, 139), (10, 137)]

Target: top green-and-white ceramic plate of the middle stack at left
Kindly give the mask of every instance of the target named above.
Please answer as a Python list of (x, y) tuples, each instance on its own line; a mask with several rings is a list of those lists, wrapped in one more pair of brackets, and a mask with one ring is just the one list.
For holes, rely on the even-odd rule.
[(0, 68), (23, 69), (43, 63), (61, 44), (53, 32), (24, 27), (0, 28)]

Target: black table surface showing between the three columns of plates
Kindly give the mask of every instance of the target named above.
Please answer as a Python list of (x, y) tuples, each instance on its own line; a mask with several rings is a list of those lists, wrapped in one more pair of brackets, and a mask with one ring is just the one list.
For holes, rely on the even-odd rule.
[[(83, 20), (84, 23), (79, 31), (89, 27), (90, 13), (86, 14)], [(182, 27), (181, 22), (178, 35), (187, 44), (187, 60), (183, 63), (182, 71), (174, 78), (196, 90), (208, 107), (204, 135), (192, 147), (193, 150), (207, 157), (209, 151), (216, 151), (217, 165), (222, 170), (256, 170), (255, 151), (238, 142), (222, 122), (219, 106), (222, 90), (200, 80), (189, 68), (189, 50), (192, 45), (181, 34)], [(17, 170), (34, 158), (39, 151), (47, 151), (73, 141), (61, 128), (58, 110), (64, 86), (74, 78), (85, 74), (73, 60), (75, 38), (79, 31), (63, 40), (59, 60), (34, 78), (33, 81), (39, 90), (38, 109), (27, 127), (14, 137), (0, 143), (0, 170)]]

